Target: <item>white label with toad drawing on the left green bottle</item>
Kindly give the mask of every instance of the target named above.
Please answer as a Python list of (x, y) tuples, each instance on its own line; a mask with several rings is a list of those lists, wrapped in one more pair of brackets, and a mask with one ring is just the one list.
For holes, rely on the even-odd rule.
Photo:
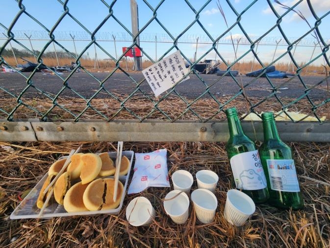
[(261, 190), (267, 187), (258, 150), (231, 157), (230, 165), (237, 189)]

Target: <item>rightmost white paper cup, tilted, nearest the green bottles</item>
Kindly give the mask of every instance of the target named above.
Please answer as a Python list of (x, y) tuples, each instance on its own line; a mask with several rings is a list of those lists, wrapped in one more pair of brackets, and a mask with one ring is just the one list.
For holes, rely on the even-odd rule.
[(227, 192), (224, 215), (230, 224), (243, 225), (254, 211), (255, 204), (249, 195), (234, 189)]

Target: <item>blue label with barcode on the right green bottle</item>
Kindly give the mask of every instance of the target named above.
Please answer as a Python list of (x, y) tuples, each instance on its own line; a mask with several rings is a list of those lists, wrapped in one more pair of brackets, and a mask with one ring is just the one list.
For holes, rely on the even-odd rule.
[(267, 167), (272, 190), (300, 192), (295, 163), (292, 159), (267, 159)]

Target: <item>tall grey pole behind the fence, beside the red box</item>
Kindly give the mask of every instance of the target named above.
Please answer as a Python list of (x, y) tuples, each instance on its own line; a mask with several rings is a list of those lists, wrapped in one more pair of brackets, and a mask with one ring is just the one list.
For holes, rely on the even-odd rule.
[[(138, 7), (136, 0), (130, 0), (130, 15), (132, 21), (132, 34), (136, 37), (136, 44), (140, 46), (140, 39), (139, 36), (137, 36), (139, 32), (139, 16), (138, 16)], [(134, 56), (134, 70), (142, 71), (141, 68), (142, 59), (141, 57), (135, 56), (135, 48), (136, 46), (132, 47), (132, 53)]]

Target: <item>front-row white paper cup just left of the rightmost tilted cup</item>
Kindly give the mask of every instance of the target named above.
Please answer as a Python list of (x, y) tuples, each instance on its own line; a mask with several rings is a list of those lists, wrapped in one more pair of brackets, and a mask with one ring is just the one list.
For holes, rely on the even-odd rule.
[(206, 189), (197, 189), (191, 193), (191, 200), (198, 220), (203, 224), (214, 220), (215, 210), (218, 206), (218, 200), (214, 193)]

